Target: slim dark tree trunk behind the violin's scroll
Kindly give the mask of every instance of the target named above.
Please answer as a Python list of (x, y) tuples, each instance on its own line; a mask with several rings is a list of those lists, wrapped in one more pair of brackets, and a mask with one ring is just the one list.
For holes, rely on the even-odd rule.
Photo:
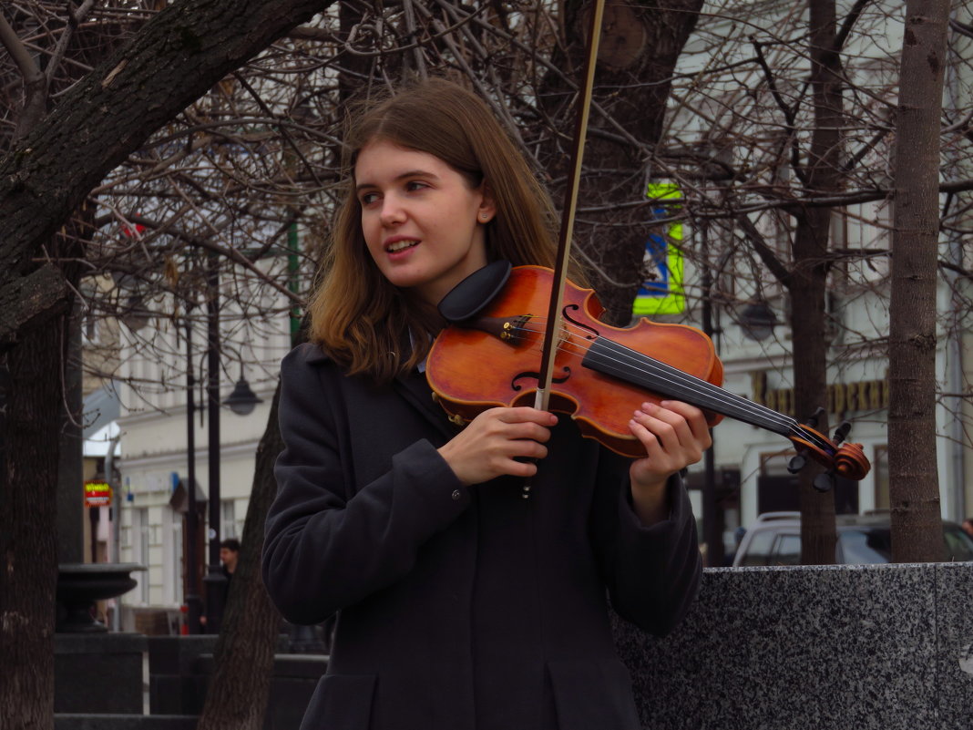
[[(811, 0), (809, 45), (814, 125), (811, 154), (806, 169), (812, 194), (838, 190), (841, 183), (842, 87), (841, 68), (835, 52), (834, 0)], [(788, 290), (793, 331), (794, 409), (804, 420), (827, 403), (827, 352), (824, 298), (828, 279), (830, 208), (805, 208), (798, 216), (794, 236), (794, 265)], [(827, 433), (827, 414), (817, 426)], [(820, 493), (812, 486), (820, 469), (809, 464), (800, 474), (801, 563), (831, 565), (835, 562), (834, 491)]]

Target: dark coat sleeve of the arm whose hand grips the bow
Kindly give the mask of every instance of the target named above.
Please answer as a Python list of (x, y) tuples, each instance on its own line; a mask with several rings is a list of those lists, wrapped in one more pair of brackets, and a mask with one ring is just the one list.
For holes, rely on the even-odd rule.
[(420, 546), (470, 502), (426, 440), (392, 456), (388, 472), (356, 490), (341, 376), (333, 363), (308, 363), (307, 347), (281, 367), (284, 451), (263, 554), (270, 599), (297, 624), (319, 623), (399, 581)]

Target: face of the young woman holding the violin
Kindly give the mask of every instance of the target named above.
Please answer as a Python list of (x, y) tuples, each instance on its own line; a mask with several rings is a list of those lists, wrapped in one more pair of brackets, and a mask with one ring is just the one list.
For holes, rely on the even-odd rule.
[(438, 157), (378, 139), (359, 152), (355, 185), (369, 253), (393, 285), (437, 305), (486, 265), (493, 201)]

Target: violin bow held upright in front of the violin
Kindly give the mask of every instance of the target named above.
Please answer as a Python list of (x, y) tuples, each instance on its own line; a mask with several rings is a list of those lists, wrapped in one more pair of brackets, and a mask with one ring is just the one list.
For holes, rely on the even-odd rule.
[(551, 398), (551, 383), (554, 380), (554, 361), (558, 354), (560, 338), (560, 310), (564, 300), (564, 286), (567, 281), (567, 264), (570, 259), (571, 239), (574, 236), (574, 217), (578, 206), (578, 185), (581, 181), (581, 162), (585, 153), (585, 140), (588, 136), (588, 116), (595, 88), (595, 62), (598, 55), (598, 42), (601, 39), (601, 18), (604, 16), (604, 0), (595, 0), (591, 26), (588, 33), (588, 53), (585, 56), (584, 85), (578, 98), (580, 104), (574, 129), (574, 154), (571, 161), (571, 174), (568, 176), (564, 191), (564, 207), (561, 212), (560, 234), (558, 238), (558, 258), (551, 282), (551, 304), (548, 310), (547, 327), (544, 331), (544, 348), (541, 366), (538, 370), (537, 392), (534, 408), (548, 410)]

